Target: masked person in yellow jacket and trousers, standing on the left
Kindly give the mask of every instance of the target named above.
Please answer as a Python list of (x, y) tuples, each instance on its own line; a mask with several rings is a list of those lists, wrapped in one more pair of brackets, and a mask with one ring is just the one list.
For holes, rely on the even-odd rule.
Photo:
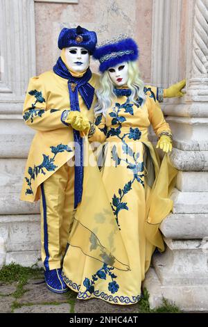
[[(94, 31), (80, 26), (62, 29), (58, 62), (53, 71), (31, 78), (24, 103), (24, 121), (37, 133), (28, 154), (21, 200), (40, 199), (45, 279), (49, 289), (58, 293), (67, 292), (61, 276), (62, 258), (73, 225), (73, 212), (83, 196), (83, 138), (73, 124), (76, 126), (79, 116), (82, 129), (87, 132), (89, 120), (94, 120), (99, 77), (89, 69), (89, 61), (95, 46)], [(166, 90), (146, 87), (148, 93), (155, 92), (160, 100), (163, 94), (180, 95), (181, 88), (179, 83)], [(96, 178), (99, 184), (99, 176)], [(73, 240), (77, 244), (75, 236)]]

